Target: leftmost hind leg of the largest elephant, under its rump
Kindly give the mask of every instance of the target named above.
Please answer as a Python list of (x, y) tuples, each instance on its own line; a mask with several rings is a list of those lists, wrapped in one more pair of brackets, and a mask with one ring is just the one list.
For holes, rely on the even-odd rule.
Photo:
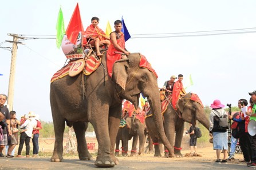
[(65, 129), (65, 119), (57, 114), (57, 112), (52, 108), (53, 122), (54, 122), (54, 133), (55, 133), (55, 143), (53, 149), (53, 156), (50, 161), (60, 162), (63, 161), (63, 133)]

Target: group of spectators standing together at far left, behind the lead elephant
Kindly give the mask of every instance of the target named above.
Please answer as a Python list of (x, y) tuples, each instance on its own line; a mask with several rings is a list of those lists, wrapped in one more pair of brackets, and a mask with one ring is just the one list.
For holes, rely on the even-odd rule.
[[(39, 115), (30, 111), (29, 114), (18, 120), (16, 112), (9, 112), (9, 109), (4, 105), (6, 100), (7, 96), (0, 94), (0, 157), (14, 157), (15, 146), (18, 144), (18, 154), (15, 157), (22, 157), (21, 152), (24, 143), (26, 145), (26, 157), (30, 157), (30, 139), (33, 142), (33, 157), (37, 157), (39, 130), (42, 129)], [(3, 154), (4, 148), (6, 148), (5, 155)]]

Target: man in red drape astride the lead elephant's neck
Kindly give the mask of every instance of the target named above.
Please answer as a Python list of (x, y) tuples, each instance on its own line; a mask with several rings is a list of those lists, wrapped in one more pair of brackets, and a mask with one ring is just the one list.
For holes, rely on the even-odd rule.
[[(125, 50), (124, 34), (122, 30), (122, 22), (120, 20), (115, 21), (115, 31), (110, 33), (110, 45), (107, 52), (107, 67), (108, 75), (112, 77), (112, 67), (116, 60), (127, 58), (130, 54)], [(123, 55), (124, 54), (124, 55)]]

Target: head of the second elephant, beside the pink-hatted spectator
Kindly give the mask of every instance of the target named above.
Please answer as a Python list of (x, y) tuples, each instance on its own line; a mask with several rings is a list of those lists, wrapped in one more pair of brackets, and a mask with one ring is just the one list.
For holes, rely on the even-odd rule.
[(202, 103), (200, 103), (199, 98), (198, 101), (195, 101), (194, 99), (192, 100), (192, 95), (195, 94), (188, 93), (178, 100), (178, 108), (182, 113), (182, 119), (185, 122), (191, 123), (194, 127), (196, 120), (198, 120), (201, 124), (203, 124), (204, 127), (209, 129), (210, 122), (204, 112)]

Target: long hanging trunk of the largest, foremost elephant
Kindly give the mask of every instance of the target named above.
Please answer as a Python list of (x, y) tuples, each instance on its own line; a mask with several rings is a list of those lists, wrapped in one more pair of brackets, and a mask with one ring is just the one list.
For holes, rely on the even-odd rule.
[(173, 156), (174, 150), (168, 141), (166, 134), (164, 133), (164, 126), (163, 126), (163, 117), (162, 117), (162, 110), (161, 110), (161, 102), (160, 102), (160, 95), (157, 91), (157, 94), (153, 95), (153, 100), (151, 100), (150, 96), (148, 98), (150, 107), (153, 113), (153, 119), (155, 120), (157, 133), (162, 140), (162, 143), (169, 151), (170, 155)]

